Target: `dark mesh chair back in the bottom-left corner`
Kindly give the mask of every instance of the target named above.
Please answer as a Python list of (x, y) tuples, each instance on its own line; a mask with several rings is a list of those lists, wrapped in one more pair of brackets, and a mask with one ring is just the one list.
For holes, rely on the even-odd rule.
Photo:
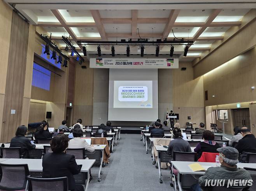
[(27, 176), (29, 175), (28, 165), (1, 164), (1, 190), (22, 190), (26, 188)]

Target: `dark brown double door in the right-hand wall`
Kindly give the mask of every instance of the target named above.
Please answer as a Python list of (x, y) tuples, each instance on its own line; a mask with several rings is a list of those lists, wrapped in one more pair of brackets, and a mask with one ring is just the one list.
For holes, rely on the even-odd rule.
[(234, 127), (251, 128), (249, 108), (232, 109)]

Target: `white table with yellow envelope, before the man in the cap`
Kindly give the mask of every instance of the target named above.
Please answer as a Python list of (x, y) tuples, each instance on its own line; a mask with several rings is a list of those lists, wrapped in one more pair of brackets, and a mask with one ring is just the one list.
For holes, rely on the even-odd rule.
[[(188, 165), (192, 163), (199, 163), (202, 166), (208, 166), (208, 167), (216, 167), (215, 162), (184, 162), (184, 161), (172, 161), (172, 165), (175, 167), (175, 169), (178, 170), (178, 186), (179, 186), (179, 191), (182, 191), (181, 187), (181, 174), (198, 174), (198, 175), (203, 175), (205, 174), (205, 171), (197, 171), (193, 172)], [(237, 163), (237, 167), (239, 168), (253, 168), (256, 169), (256, 163)]]

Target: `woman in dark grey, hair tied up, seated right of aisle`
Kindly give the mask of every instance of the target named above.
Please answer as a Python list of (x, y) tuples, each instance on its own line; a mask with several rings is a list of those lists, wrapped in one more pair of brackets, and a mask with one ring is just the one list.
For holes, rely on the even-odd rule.
[(167, 155), (172, 155), (174, 151), (180, 151), (180, 152), (191, 152), (190, 145), (188, 141), (185, 141), (182, 139), (181, 129), (175, 128), (173, 130), (174, 133), (174, 140), (170, 141), (168, 149), (167, 149)]

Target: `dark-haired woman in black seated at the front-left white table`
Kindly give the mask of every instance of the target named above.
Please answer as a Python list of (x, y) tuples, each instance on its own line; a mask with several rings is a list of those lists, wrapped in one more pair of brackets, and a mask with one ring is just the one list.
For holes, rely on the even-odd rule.
[(83, 186), (76, 185), (74, 174), (79, 174), (82, 165), (77, 165), (75, 156), (66, 154), (69, 139), (65, 134), (59, 134), (51, 140), (53, 153), (43, 156), (43, 178), (68, 177), (68, 190), (82, 191)]

